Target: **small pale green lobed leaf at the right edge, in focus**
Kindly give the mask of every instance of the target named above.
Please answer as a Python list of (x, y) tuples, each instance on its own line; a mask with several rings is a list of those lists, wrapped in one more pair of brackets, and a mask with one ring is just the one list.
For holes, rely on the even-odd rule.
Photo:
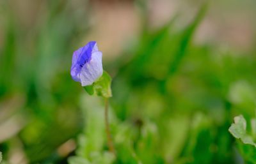
[(256, 147), (253, 138), (246, 133), (246, 120), (243, 116), (236, 116), (234, 123), (230, 126), (228, 131), (237, 139), (241, 139), (244, 144), (250, 144)]

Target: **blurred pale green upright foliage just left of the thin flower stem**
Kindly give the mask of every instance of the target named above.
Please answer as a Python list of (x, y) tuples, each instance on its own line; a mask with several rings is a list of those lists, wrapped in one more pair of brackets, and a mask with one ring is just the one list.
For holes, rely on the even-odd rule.
[[(115, 155), (104, 150), (106, 135), (104, 126), (104, 109), (99, 104), (99, 99), (87, 96), (83, 104), (86, 116), (86, 129), (79, 136), (77, 156), (70, 157), (68, 163), (102, 163), (111, 164)], [(84, 101), (83, 101), (84, 102)]]

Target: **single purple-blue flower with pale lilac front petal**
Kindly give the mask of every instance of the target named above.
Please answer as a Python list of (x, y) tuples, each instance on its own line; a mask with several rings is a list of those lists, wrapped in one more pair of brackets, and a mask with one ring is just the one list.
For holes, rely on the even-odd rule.
[(81, 82), (82, 86), (90, 86), (102, 73), (102, 52), (96, 41), (90, 41), (74, 52), (70, 71), (73, 80)]

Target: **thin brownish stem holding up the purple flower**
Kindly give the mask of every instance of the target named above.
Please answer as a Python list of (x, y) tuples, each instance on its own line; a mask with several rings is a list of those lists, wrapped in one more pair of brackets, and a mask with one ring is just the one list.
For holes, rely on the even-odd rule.
[(109, 151), (115, 153), (115, 148), (113, 146), (113, 141), (110, 134), (109, 121), (108, 121), (108, 98), (105, 99), (105, 125), (106, 125), (106, 135), (108, 139)]

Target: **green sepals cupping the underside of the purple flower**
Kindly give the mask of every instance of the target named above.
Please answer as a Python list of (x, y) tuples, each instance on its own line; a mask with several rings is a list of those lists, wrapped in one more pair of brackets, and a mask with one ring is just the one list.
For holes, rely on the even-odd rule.
[(94, 82), (91, 86), (86, 86), (84, 89), (90, 95), (102, 96), (109, 98), (112, 96), (111, 92), (111, 77), (106, 71), (103, 72), (102, 76)]

